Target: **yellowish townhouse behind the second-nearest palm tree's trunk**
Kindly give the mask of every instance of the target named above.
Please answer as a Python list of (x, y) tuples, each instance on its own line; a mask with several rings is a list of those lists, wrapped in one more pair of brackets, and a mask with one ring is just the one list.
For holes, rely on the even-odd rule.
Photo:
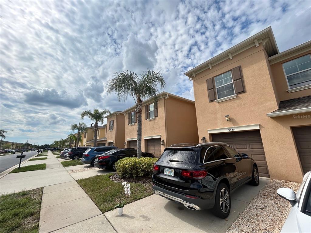
[[(86, 131), (82, 133), (82, 142), (80, 146), (90, 146), (94, 145), (94, 130), (92, 126), (87, 127)], [(97, 146), (106, 146), (107, 138), (106, 138), (106, 125), (98, 126), (97, 130)]]

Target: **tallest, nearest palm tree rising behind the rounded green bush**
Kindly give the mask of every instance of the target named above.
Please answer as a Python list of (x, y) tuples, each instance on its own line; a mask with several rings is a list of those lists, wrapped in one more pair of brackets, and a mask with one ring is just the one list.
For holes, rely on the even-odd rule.
[(153, 98), (158, 102), (158, 85), (165, 88), (165, 80), (159, 71), (147, 70), (139, 76), (134, 72), (116, 72), (107, 85), (108, 94), (116, 93), (119, 102), (132, 96), (137, 114), (137, 158), (142, 156), (142, 102)]

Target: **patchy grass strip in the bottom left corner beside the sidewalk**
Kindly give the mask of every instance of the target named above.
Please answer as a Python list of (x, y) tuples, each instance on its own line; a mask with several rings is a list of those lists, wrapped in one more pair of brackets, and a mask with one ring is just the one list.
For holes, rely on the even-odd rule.
[(43, 188), (21, 191), (0, 197), (0, 232), (39, 232)]

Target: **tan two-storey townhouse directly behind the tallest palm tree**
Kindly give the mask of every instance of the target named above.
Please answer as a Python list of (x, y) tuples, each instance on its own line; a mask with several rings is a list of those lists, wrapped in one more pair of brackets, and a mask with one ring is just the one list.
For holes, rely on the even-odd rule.
[[(159, 94), (157, 103), (147, 99), (142, 112), (142, 151), (159, 157), (172, 144), (198, 142), (195, 103), (167, 92)], [(135, 106), (125, 115), (125, 147), (137, 148), (137, 116)]]

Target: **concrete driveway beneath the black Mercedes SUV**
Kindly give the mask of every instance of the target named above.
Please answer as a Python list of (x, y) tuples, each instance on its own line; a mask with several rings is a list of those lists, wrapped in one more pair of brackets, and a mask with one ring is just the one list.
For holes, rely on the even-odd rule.
[(243, 185), (231, 194), (231, 212), (227, 220), (210, 210), (194, 211), (157, 195), (130, 203), (123, 216), (118, 211), (104, 213), (117, 232), (225, 232), (268, 180), (258, 186)]

